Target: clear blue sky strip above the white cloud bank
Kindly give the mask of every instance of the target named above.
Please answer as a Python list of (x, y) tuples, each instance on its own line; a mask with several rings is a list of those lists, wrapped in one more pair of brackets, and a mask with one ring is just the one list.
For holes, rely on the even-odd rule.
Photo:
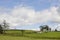
[(58, 6), (59, 0), (0, 0), (0, 6), (13, 8), (16, 5), (31, 6), (35, 10), (44, 10), (51, 6)]

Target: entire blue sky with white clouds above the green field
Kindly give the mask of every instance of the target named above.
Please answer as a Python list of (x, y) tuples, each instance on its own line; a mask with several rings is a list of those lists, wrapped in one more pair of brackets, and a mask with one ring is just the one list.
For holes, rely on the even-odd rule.
[(11, 29), (39, 30), (48, 25), (60, 30), (60, 0), (0, 0), (0, 23)]

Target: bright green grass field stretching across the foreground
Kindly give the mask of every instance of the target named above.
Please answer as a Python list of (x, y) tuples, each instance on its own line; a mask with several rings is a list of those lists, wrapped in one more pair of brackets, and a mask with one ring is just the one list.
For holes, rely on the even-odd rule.
[(22, 36), (21, 31), (6, 31), (6, 34), (0, 34), (0, 40), (60, 40), (60, 32), (34, 33), (25, 31)]

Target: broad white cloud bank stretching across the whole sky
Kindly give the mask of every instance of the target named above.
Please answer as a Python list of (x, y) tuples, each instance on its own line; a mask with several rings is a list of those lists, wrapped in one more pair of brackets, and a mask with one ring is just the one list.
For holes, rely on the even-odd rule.
[(60, 22), (57, 7), (35, 11), (31, 7), (16, 6), (9, 13), (0, 13), (0, 20), (6, 20), (11, 26), (32, 25), (47, 21)]

